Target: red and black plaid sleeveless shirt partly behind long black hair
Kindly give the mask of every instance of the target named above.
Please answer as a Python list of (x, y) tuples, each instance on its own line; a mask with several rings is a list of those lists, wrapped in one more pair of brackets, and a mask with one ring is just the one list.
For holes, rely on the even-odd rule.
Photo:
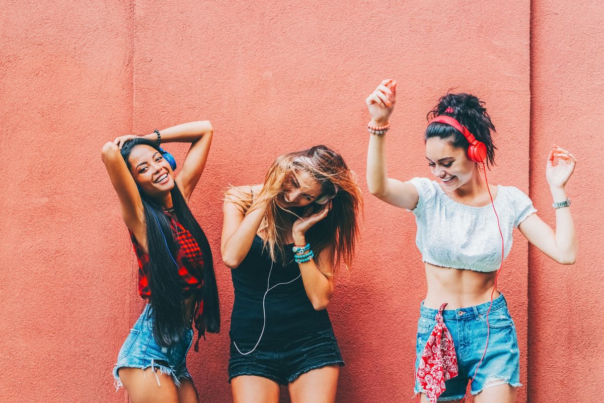
[[(191, 294), (196, 297), (193, 318), (195, 328), (198, 330), (197, 342), (195, 343), (195, 351), (198, 351), (199, 338), (205, 334), (204, 301), (201, 298), (201, 289), (204, 286), (204, 255), (193, 235), (181, 223), (176, 221), (175, 216), (167, 211), (165, 211), (165, 214), (170, 221), (172, 235), (179, 246), (175, 260), (178, 263), (182, 292), (187, 297)], [(149, 280), (147, 279), (149, 275), (149, 255), (144, 253), (132, 232), (130, 232), (130, 239), (138, 260), (138, 294), (144, 299), (148, 299), (151, 296)]]

